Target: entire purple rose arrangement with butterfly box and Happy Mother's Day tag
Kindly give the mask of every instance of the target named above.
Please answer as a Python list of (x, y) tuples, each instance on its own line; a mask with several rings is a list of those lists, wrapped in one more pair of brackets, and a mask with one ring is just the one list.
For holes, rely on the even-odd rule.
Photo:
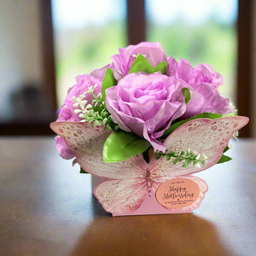
[(113, 215), (191, 212), (207, 183), (192, 176), (224, 155), (247, 117), (220, 96), (223, 77), (167, 56), (160, 43), (119, 49), (112, 62), (77, 77), (56, 122), (59, 154), (106, 177), (94, 189)]

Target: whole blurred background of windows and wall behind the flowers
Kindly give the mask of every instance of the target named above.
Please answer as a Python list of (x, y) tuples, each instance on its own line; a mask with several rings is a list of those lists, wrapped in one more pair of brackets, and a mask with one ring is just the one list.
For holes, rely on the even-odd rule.
[(221, 73), (220, 93), (251, 118), (241, 136), (256, 137), (255, 12), (253, 0), (0, 1), (1, 135), (51, 134), (77, 75), (150, 41)]

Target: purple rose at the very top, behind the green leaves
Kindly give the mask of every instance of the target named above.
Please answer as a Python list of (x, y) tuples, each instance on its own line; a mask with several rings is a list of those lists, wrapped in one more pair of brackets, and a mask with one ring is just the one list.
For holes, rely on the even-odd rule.
[(137, 45), (129, 45), (126, 48), (119, 49), (119, 55), (111, 57), (114, 78), (119, 80), (125, 77), (139, 54), (144, 55), (153, 67), (166, 60), (166, 53), (160, 43), (142, 42)]

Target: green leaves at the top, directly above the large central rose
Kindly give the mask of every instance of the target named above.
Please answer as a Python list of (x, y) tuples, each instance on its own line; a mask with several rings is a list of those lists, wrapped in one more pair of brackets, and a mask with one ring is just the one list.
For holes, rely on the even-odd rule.
[(166, 74), (166, 66), (166, 61), (162, 61), (156, 67), (152, 67), (146, 57), (144, 57), (143, 55), (137, 55), (136, 60), (132, 63), (129, 73), (155, 73), (160, 71), (160, 73)]

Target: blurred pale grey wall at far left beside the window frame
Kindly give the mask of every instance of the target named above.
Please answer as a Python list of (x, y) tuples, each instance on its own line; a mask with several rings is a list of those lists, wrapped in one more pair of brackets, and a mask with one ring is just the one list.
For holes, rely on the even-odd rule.
[(43, 78), (39, 0), (0, 1), (0, 121), (10, 117), (10, 93)]

